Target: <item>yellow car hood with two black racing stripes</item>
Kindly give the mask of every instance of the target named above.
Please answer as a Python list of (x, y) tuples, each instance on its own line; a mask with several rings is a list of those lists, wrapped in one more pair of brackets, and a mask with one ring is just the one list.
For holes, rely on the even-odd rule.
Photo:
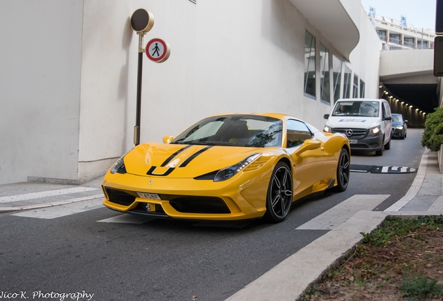
[(141, 144), (125, 155), (125, 168), (139, 176), (195, 178), (262, 152), (263, 148), (236, 146)]

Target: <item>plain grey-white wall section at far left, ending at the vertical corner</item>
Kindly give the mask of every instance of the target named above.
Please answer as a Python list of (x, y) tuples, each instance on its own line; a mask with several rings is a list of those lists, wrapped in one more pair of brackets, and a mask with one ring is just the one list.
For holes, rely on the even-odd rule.
[(76, 178), (83, 1), (0, 1), (0, 183)]

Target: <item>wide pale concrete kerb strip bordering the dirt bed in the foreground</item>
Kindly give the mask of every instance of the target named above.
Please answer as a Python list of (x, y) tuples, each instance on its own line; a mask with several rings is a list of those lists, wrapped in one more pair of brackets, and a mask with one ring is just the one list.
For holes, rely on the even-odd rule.
[(297, 300), (306, 287), (337, 258), (362, 240), (386, 217), (380, 211), (362, 211), (289, 256), (226, 301)]

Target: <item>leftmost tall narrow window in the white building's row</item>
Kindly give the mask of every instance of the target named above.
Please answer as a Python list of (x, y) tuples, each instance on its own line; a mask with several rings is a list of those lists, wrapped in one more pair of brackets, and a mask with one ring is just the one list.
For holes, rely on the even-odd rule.
[(304, 93), (316, 98), (316, 38), (308, 31), (304, 36)]

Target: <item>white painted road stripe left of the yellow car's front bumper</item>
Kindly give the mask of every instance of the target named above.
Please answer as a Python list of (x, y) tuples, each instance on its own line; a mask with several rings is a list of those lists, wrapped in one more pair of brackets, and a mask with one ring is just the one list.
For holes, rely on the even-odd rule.
[(84, 201), (77, 201), (75, 203), (68, 203), (60, 206), (51, 205), (51, 207), (39, 208), (36, 210), (27, 210), (20, 213), (14, 213), (13, 215), (39, 219), (54, 219), (57, 217), (82, 213), (97, 208), (104, 208), (101, 197), (95, 199), (86, 199)]

